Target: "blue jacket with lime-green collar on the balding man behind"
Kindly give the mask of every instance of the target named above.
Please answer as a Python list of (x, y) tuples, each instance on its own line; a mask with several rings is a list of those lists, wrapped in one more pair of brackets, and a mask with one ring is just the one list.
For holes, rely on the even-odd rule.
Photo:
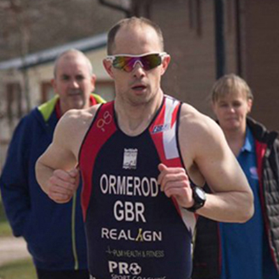
[(36, 160), (52, 142), (57, 99), (33, 109), (17, 126), (0, 178), (1, 194), (13, 234), (27, 241), (38, 269), (87, 269), (81, 186), (70, 202), (56, 204), (35, 176)]

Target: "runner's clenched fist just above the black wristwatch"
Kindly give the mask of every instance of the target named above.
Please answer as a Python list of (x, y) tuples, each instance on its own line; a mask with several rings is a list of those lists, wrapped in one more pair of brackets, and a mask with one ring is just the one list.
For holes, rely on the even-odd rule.
[(167, 167), (164, 164), (158, 165), (160, 174), (158, 184), (167, 197), (175, 197), (176, 201), (183, 207), (193, 206), (193, 194), (190, 181), (185, 169), (182, 167)]

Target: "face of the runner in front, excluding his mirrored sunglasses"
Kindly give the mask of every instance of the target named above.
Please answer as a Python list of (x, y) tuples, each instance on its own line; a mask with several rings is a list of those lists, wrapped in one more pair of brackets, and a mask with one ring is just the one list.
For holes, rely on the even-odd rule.
[[(116, 34), (114, 55), (140, 55), (150, 52), (163, 52), (158, 34), (153, 28), (147, 25), (133, 25), (122, 27)], [(140, 63), (135, 63), (130, 73), (114, 68), (111, 61), (104, 61), (107, 72), (115, 82), (116, 98), (133, 106), (143, 105), (155, 98), (169, 59), (167, 55), (160, 66), (151, 70), (144, 70)]]

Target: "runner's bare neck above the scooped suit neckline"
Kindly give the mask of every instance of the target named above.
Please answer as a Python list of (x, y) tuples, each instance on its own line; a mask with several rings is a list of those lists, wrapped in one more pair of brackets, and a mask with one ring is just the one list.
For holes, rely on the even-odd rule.
[(151, 123), (163, 101), (163, 91), (148, 102), (130, 104), (121, 98), (115, 98), (115, 112), (121, 130), (127, 135), (140, 135)]

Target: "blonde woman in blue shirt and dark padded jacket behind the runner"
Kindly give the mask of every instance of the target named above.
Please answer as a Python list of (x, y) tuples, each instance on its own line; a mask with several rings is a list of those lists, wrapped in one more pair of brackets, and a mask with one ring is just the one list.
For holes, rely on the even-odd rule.
[(199, 218), (193, 278), (279, 278), (279, 144), (277, 133), (248, 117), (252, 100), (248, 84), (236, 75), (213, 86), (213, 112), (252, 188), (255, 214), (244, 224), (208, 226)]

